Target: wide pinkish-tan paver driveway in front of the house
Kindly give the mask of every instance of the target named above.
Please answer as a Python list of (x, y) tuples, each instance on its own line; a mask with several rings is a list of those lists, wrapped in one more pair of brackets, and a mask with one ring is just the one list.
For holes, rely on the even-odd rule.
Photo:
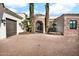
[(0, 40), (0, 55), (79, 55), (79, 37), (48, 34), (15, 35)]

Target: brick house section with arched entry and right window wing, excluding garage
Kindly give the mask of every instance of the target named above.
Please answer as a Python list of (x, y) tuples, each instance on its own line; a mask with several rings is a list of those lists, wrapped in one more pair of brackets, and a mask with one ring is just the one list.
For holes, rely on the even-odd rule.
[[(53, 24), (55, 24), (53, 26)], [(55, 29), (54, 29), (55, 28)], [(45, 15), (37, 14), (34, 19), (35, 32), (45, 33)], [(69, 13), (49, 17), (49, 32), (53, 34), (79, 35), (79, 14)]]

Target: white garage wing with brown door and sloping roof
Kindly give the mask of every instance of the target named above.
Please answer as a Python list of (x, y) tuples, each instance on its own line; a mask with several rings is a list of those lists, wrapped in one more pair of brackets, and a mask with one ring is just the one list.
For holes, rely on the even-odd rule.
[(23, 32), (20, 26), (23, 19), (22, 16), (6, 8), (3, 3), (0, 3), (0, 39)]

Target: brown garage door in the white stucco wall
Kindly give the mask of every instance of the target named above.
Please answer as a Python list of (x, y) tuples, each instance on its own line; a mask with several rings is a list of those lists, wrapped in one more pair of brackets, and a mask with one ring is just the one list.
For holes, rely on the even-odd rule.
[(16, 21), (6, 18), (6, 35), (7, 35), (7, 37), (16, 34), (16, 26), (17, 26)]

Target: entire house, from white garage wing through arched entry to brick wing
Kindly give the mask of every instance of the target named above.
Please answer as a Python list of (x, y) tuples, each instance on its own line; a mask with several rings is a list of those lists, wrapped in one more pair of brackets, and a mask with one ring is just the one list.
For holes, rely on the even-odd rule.
[[(0, 39), (24, 32), (21, 22), (27, 18), (25, 13), (16, 14), (0, 3)], [(49, 17), (49, 28), (63, 35), (79, 35), (79, 14), (63, 14)], [(53, 27), (53, 23), (54, 25)], [(52, 29), (53, 28), (53, 29)], [(34, 32), (45, 33), (45, 15), (34, 16)]]

